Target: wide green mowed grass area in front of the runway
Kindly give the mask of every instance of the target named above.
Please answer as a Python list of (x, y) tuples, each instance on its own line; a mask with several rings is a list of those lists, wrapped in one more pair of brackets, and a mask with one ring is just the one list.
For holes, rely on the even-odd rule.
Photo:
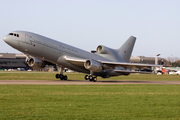
[(180, 119), (180, 86), (0, 85), (0, 119)]

